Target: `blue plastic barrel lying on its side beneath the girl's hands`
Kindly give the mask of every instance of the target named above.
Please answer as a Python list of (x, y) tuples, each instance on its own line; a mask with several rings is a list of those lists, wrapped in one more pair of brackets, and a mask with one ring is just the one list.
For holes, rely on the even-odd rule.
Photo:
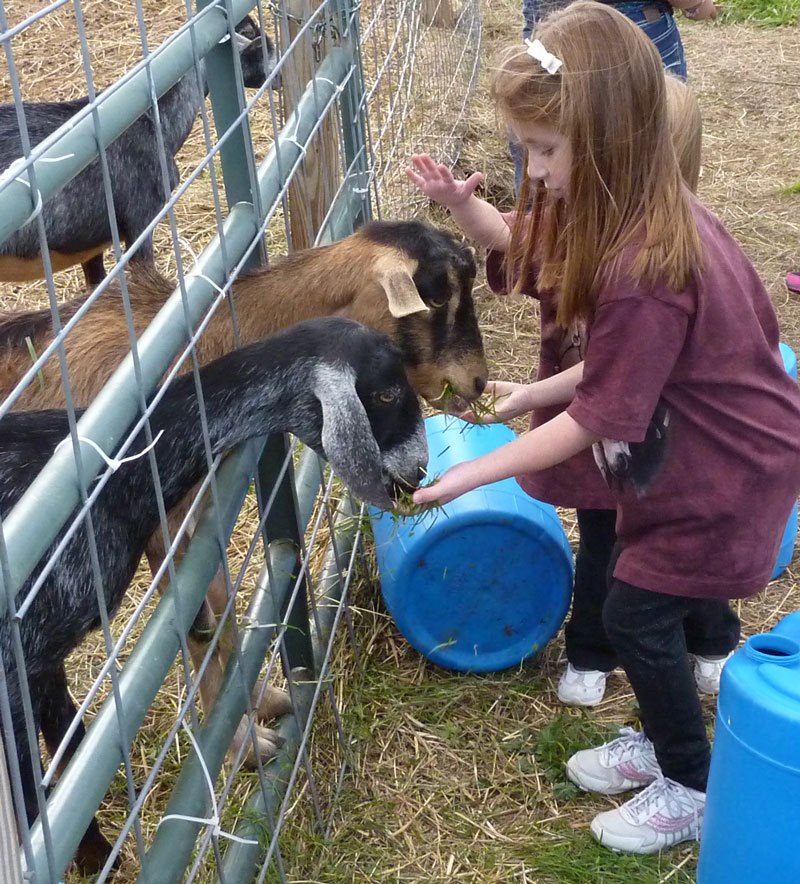
[[(502, 424), (425, 421), (428, 477), (516, 438)], [(506, 479), (406, 518), (373, 510), (386, 607), (408, 642), (440, 666), (496, 672), (541, 650), (566, 616), (572, 552), (549, 504)]]

